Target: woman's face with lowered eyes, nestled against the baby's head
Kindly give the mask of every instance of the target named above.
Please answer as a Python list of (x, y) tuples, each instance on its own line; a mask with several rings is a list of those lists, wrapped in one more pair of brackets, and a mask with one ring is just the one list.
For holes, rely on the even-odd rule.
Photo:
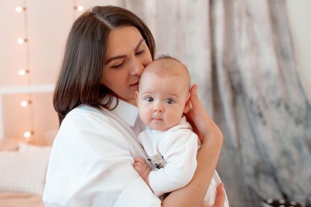
[(107, 52), (100, 83), (126, 102), (136, 105), (140, 75), (152, 62), (150, 50), (134, 26), (113, 29), (108, 36)]

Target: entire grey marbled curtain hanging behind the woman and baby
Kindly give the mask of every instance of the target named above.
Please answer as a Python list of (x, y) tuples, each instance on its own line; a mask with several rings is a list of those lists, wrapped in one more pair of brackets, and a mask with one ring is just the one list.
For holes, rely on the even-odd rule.
[(217, 170), (231, 207), (311, 203), (311, 107), (284, 0), (125, 0), (177, 57), (224, 134)]

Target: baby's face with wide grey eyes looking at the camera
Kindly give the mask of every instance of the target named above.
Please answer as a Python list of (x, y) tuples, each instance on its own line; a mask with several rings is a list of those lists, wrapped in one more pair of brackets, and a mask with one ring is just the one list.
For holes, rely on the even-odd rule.
[(166, 131), (176, 126), (185, 111), (189, 85), (182, 76), (159, 77), (147, 72), (136, 92), (139, 114), (152, 130)]

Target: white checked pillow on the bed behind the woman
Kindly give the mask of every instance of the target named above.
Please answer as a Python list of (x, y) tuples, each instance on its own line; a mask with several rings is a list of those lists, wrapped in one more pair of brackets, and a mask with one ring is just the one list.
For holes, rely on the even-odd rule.
[(18, 151), (0, 151), (0, 191), (42, 194), (51, 147), (21, 145)]

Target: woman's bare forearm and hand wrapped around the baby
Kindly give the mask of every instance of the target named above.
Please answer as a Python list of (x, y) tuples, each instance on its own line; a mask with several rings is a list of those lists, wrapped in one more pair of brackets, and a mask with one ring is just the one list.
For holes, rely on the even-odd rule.
[[(202, 141), (202, 147), (197, 155), (198, 166), (191, 182), (186, 187), (170, 193), (163, 200), (162, 207), (200, 207), (216, 169), (223, 144), (223, 134), (206, 113), (198, 98), (197, 89), (197, 84), (191, 87), (190, 99), (193, 108), (186, 117)], [(215, 207), (216, 205), (224, 207), (222, 202), (224, 191), (220, 190), (218, 193)]]

